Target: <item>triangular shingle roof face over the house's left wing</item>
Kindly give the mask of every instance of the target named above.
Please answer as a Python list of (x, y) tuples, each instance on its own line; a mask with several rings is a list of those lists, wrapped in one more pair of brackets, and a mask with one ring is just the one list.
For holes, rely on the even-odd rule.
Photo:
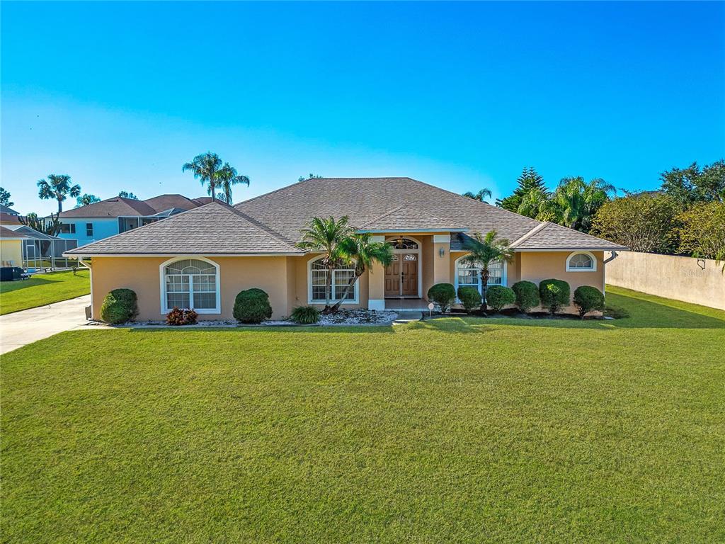
[(66, 253), (243, 255), (304, 252), (239, 210), (212, 202)]

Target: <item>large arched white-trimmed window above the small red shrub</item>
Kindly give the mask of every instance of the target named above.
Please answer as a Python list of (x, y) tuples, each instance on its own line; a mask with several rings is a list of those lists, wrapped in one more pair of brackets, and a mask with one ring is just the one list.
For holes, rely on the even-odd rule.
[(161, 265), (161, 311), (193, 308), (197, 313), (220, 313), (219, 266), (210, 260), (179, 259)]

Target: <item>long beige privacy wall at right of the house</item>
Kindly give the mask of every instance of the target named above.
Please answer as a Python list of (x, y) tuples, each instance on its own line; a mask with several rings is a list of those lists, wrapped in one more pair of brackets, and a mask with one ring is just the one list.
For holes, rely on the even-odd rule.
[(627, 251), (608, 263), (607, 283), (725, 310), (722, 266), (711, 259)]

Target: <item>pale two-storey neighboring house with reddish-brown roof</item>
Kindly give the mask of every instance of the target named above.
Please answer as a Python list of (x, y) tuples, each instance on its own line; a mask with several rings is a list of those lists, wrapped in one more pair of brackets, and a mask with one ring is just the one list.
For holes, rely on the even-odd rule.
[(190, 199), (181, 194), (162, 194), (148, 200), (113, 197), (61, 212), (59, 236), (78, 240), (79, 246), (91, 244), (210, 201), (210, 197)]

